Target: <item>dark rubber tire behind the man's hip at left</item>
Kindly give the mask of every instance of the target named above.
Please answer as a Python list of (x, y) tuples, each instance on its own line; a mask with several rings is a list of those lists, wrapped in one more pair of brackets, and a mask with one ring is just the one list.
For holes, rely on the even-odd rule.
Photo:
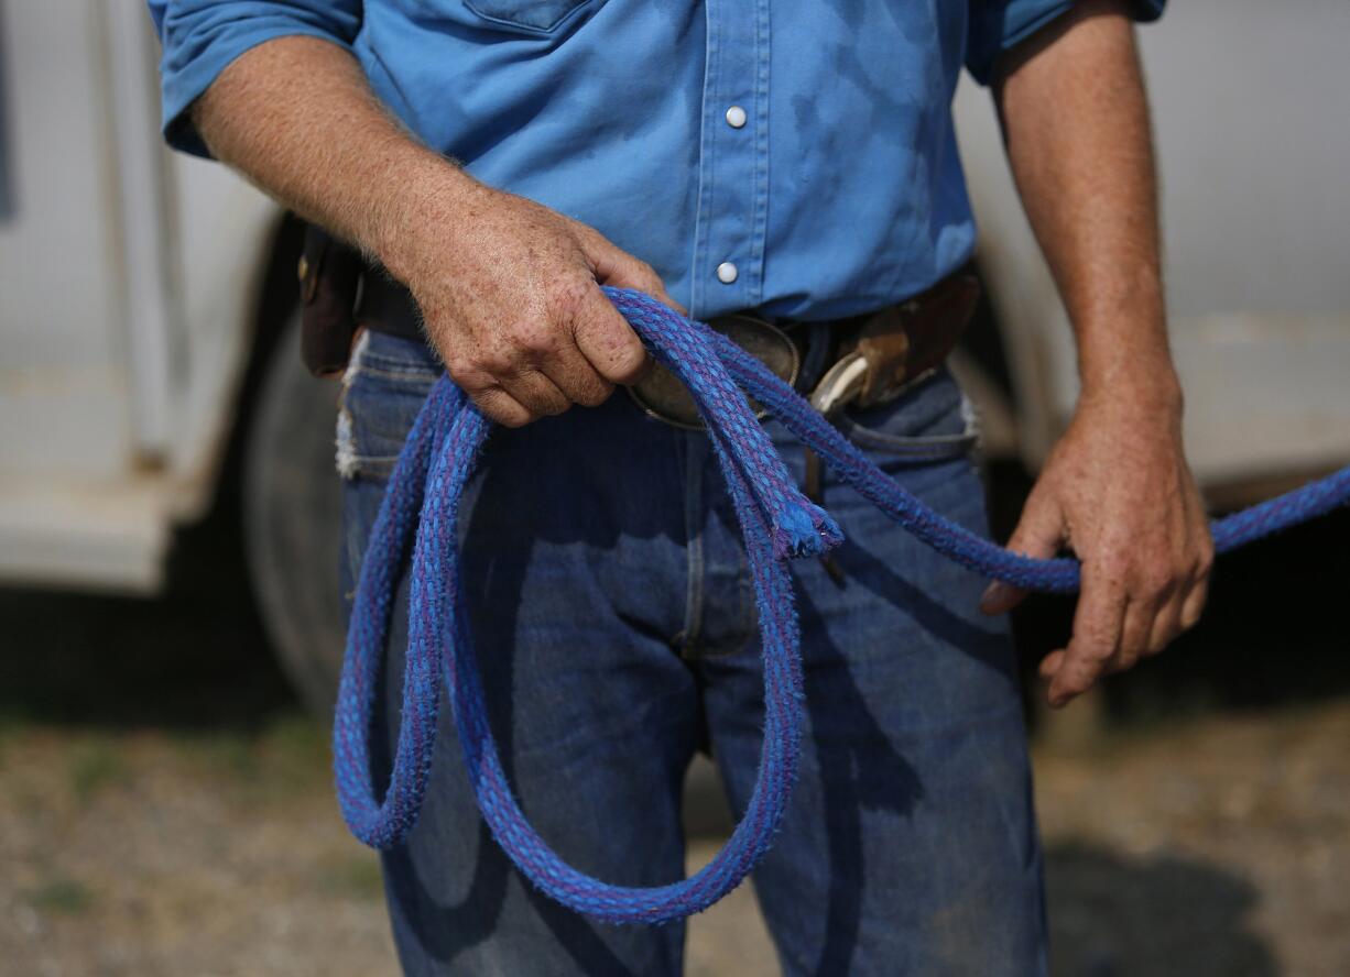
[(300, 362), (300, 316), (266, 364), (244, 455), (244, 544), (263, 623), (304, 703), (331, 715), (346, 627), (339, 592), (339, 385)]

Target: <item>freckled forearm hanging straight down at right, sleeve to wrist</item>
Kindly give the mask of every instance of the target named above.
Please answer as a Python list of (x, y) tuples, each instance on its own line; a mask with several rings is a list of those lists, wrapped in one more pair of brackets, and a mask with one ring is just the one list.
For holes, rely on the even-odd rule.
[(1010, 53), (996, 97), (1018, 190), (1073, 323), (1084, 395), (1125, 391), (1179, 413), (1149, 109), (1125, 3), (1083, 3)]

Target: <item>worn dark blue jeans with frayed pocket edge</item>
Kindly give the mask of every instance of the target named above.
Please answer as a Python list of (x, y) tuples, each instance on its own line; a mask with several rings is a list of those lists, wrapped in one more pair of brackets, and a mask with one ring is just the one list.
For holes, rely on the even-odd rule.
[[(369, 335), (339, 421), (351, 592), (385, 480), (437, 372), (421, 345)], [(850, 436), (948, 517), (984, 530), (967, 456), (915, 464), (914, 437), (965, 425), (938, 374), (853, 416)], [(802, 449), (768, 422), (794, 476)], [(801, 775), (756, 892), (788, 974), (1045, 972), (1041, 854), (1006, 623), (981, 580), (826, 476), (848, 541), (838, 582), (794, 564), (806, 676)], [(680, 792), (710, 749), (733, 812), (753, 785), (763, 715), (755, 595), (701, 433), (622, 393), (498, 429), (470, 486), (464, 579), (490, 722), (543, 838), (610, 883), (683, 874)], [(406, 590), (400, 596), (406, 605)], [(396, 625), (378, 777), (398, 722)], [(454, 723), (421, 820), (383, 856), (410, 974), (678, 974), (684, 928), (605, 926), (549, 901), (487, 834)]]

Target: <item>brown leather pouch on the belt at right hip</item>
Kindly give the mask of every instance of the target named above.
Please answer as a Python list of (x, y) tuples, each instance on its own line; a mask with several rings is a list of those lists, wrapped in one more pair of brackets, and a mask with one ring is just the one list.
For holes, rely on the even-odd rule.
[(887, 403), (937, 367), (952, 352), (979, 301), (975, 275), (952, 275), (867, 320), (840, 350), (841, 358), (859, 352), (867, 360), (863, 390), (853, 402), (860, 408)]

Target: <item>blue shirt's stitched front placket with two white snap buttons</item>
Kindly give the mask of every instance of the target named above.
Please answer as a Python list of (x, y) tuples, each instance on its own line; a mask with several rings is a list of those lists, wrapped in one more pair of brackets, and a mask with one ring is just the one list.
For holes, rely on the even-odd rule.
[(770, 0), (707, 0), (691, 298), (695, 316), (764, 298)]

